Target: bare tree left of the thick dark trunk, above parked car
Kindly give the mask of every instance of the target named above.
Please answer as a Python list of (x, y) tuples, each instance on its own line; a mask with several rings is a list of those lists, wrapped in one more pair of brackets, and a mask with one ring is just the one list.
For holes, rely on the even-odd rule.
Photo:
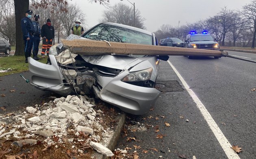
[(15, 24), (13, 24), (13, 19), (15, 19), (14, 4), (13, 1), (7, 1), (5, 3), (0, 3), (2, 10), (0, 11), (0, 32), (2, 33), (2, 38), (7, 39), (9, 43), (15, 45)]

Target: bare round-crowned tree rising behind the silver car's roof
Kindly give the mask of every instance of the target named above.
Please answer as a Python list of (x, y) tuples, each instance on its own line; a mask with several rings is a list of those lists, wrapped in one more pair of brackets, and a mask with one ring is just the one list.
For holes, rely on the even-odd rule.
[[(117, 3), (105, 10), (101, 22), (108, 21), (113, 23), (125, 24), (128, 26), (134, 26), (134, 13), (133, 7), (130, 7), (123, 3)], [(135, 11), (135, 27), (145, 29), (145, 18), (141, 16), (138, 9)]]

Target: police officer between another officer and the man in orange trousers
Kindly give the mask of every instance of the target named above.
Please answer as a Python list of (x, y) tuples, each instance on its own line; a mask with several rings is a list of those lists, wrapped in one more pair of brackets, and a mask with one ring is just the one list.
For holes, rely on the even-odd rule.
[(34, 36), (33, 36), (33, 59), (35, 60), (39, 60), (39, 58), (37, 57), (38, 54), (38, 46), (40, 43), (40, 34), (41, 34), (41, 28), (39, 26), (38, 23), (38, 19), (39, 19), (39, 15), (35, 14), (34, 15), (34, 21), (32, 21), (32, 25), (34, 27)]

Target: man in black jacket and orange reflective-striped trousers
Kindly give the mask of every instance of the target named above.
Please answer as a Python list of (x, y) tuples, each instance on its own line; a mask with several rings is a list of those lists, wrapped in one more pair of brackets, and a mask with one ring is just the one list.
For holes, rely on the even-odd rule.
[(43, 38), (43, 47), (41, 56), (44, 58), (45, 54), (49, 56), (49, 49), (52, 46), (52, 40), (54, 38), (54, 27), (52, 26), (52, 21), (47, 19), (46, 24), (43, 24), (41, 28), (41, 37)]

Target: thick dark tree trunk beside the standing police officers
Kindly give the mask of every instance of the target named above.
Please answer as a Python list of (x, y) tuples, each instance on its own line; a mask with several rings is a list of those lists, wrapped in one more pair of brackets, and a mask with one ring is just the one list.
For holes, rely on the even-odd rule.
[(29, 0), (14, 0), (15, 24), (16, 24), (16, 47), (14, 55), (24, 55), (24, 40), (21, 29), (21, 19), (28, 11)]

